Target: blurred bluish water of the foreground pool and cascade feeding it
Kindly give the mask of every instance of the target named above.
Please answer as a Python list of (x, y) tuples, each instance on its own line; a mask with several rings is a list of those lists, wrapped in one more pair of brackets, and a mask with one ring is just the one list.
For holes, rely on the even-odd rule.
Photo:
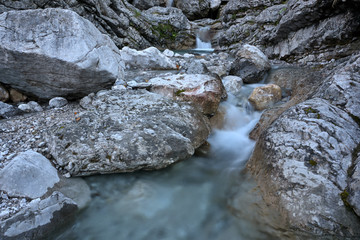
[[(167, 169), (86, 178), (92, 201), (57, 240), (278, 239), (261, 210), (256, 185), (242, 171), (254, 147), (248, 133), (260, 117), (246, 96), (229, 96), (225, 126), (209, 137), (208, 157)], [(289, 237), (291, 239), (291, 237)]]

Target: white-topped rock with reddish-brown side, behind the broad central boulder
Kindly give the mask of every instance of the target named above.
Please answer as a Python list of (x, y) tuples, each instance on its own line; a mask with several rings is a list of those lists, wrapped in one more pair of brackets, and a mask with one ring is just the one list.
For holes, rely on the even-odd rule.
[(215, 75), (178, 74), (149, 80), (150, 91), (194, 103), (205, 115), (213, 115), (226, 98), (221, 79)]

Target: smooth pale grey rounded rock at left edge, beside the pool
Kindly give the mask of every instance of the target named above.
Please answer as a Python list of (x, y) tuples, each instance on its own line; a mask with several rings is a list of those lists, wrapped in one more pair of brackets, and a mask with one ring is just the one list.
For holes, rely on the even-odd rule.
[(19, 154), (0, 170), (0, 190), (12, 197), (41, 197), (59, 181), (50, 161), (32, 150)]

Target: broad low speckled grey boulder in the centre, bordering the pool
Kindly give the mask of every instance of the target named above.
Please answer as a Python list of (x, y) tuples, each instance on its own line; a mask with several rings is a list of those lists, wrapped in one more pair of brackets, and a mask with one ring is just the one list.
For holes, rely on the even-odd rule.
[(72, 176), (164, 168), (189, 158), (210, 133), (193, 106), (145, 90), (101, 91), (73, 121), (48, 129), (55, 163)]

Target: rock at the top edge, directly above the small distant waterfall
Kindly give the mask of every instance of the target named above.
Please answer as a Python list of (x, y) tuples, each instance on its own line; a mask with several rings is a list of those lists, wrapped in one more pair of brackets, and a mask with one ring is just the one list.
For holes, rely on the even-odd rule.
[(196, 20), (207, 17), (211, 0), (175, 0), (174, 4), (189, 20)]

